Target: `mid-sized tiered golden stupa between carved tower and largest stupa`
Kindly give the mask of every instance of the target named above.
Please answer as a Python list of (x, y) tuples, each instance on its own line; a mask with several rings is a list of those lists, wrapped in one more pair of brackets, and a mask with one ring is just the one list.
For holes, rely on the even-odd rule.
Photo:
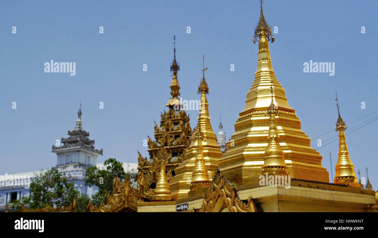
[[(186, 150), (183, 163), (175, 168), (175, 177), (170, 180), (172, 197), (175, 199), (187, 197), (188, 192), (190, 191), (192, 171), (194, 169), (198, 153), (202, 153), (202, 158), (210, 180), (214, 175), (215, 168), (218, 167), (217, 160), (219, 160), (220, 156), (222, 156), (222, 151), (220, 151), (217, 143), (217, 136), (210, 124), (209, 104), (206, 97), (206, 94), (209, 93), (209, 87), (205, 79), (205, 70), (207, 70), (207, 68), (203, 67), (202, 80), (197, 91), (201, 94), (199, 102), (200, 113), (197, 118), (197, 127), (194, 129), (190, 139), (190, 145)], [(204, 141), (199, 141), (199, 137), (197, 136), (199, 131), (203, 134), (203, 138), (205, 139)], [(201, 146), (203, 146), (203, 150), (201, 151), (199, 151), (200, 149), (198, 147), (200, 143), (202, 143)]]

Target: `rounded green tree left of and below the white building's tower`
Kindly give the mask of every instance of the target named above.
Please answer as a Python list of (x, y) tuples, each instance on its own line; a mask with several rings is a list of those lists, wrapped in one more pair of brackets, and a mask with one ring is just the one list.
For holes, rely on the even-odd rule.
[(50, 169), (36, 174), (30, 183), (31, 195), (22, 199), (29, 208), (38, 209), (46, 205), (63, 207), (70, 205), (79, 194), (73, 182), (68, 182), (65, 173)]

